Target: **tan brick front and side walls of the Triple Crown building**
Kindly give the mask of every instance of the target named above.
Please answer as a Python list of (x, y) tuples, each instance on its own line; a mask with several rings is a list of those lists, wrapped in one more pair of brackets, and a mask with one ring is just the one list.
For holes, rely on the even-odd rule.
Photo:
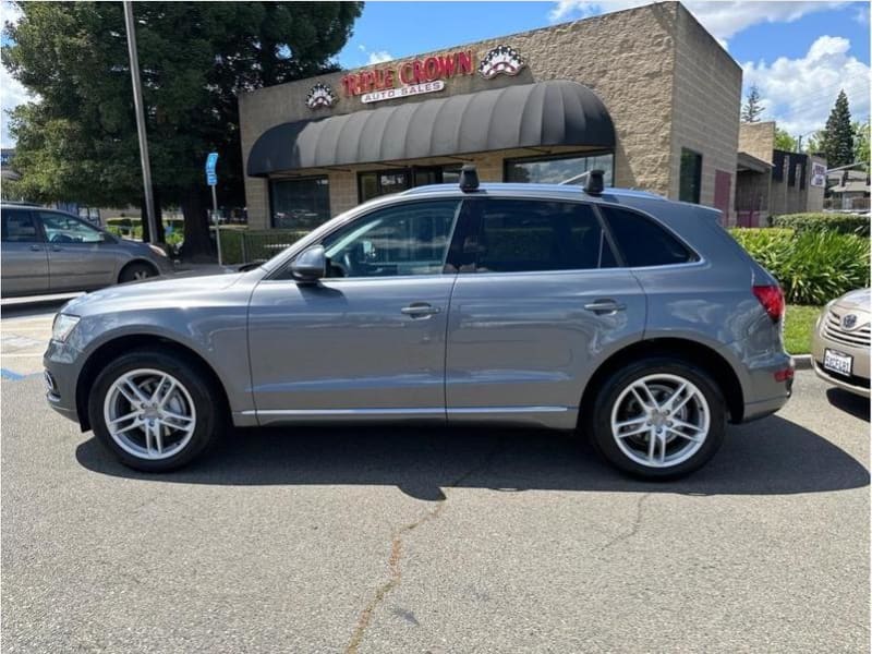
[[(446, 89), (438, 96), (363, 105), (359, 97), (344, 96), (340, 80), (348, 72), (364, 69), (243, 94), (240, 96), (243, 160), (247, 161), (252, 145), (264, 131), (284, 122), (374, 110), (511, 84), (574, 80), (603, 99), (615, 123), (616, 185), (677, 197), (679, 156), (676, 153), (680, 154), (680, 143), (688, 141), (704, 154), (703, 199), (711, 201), (714, 169), (723, 167), (735, 175), (741, 72), (704, 31), (702, 35), (699, 31), (702, 28), (677, 2), (663, 2), (440, 50), (436, 53), (472, 50), (477, 65), (488, 50), (497, 45), (509, 45), (521, 52), (528, 68), (516, 77), (498, 76), (488, 81), (477, 73), (452, 77), (446, 81)], [(426, 56), (416, 55), (390, 65), (396, 68), (402, 61)], [(692, 75), (682, 84), (676, 84), (674, 75), (679, 56), (681, 72)], [(339, 100), (332, 108), (313, 112), (306, 107), (305, 97), (317, 82), (329, 84)], [(681, 104), (693, 104), (692, 110), (682, 112), (679, 95)], [(674, 122), (678, 116), (682, 124), (676, 130)], [(686, 126), (683, 121), (691, 124)], [(714, 134), (715, 138), (706, 142), (701, 137), (703, 134)], [(532, 150), (521, 153), (521, 156), (532, 155), (535, 155)], [(505, 154), (491, 154), (470, 158), (480, 166), (482, 180), (501, 181), (504, 157)], [(341, 187), (334, 189), (335, 183)], [(268, 205), (263, 201), (266, 194), (262, 184), (246, 179), (252, 225), (267, 222)], [(353, 193), (349, 184), (354, 185)], [(330, 201), (332, 214), (349, 208), (348, 203), (356, 204), (356, 173), (330, 172)]]

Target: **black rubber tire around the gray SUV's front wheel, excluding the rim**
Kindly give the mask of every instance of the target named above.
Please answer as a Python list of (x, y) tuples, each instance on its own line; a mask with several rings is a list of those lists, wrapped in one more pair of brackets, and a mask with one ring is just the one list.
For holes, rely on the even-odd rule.
[[(168, 459), (153, 461), (131, 455), (110, 436), (104, 419), (104, 402), (111, 385), (124, 373), (136, 368), (154, 368), (175, 377), (191, 395), (196, 409), (196, 426), (187, 445)], [(165, 352), (140, 350), (119, 356), (109, 363), (92, 387), (88, 398), (88, 419), (97, 438), (122, 463), (144, 472), (164, 472), (185, 465), (201, 455), (218, 436), (221, 427), (221, 407), (216, 403), (218, 393), (198, 366), (183, 356)]]

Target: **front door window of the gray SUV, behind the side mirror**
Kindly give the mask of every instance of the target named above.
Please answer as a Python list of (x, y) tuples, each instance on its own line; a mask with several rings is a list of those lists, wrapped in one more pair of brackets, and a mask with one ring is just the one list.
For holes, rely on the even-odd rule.
[(322, 242), (328, 278), (440, 275), (459, 199), (403, 204), (373, 211)]

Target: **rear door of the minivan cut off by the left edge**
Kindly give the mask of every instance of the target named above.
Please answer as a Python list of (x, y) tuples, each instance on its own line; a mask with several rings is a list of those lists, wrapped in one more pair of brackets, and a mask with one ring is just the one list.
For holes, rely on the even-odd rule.
[(2, 294), (48, 291), (48, 254), (29, 209), (3, 209)]

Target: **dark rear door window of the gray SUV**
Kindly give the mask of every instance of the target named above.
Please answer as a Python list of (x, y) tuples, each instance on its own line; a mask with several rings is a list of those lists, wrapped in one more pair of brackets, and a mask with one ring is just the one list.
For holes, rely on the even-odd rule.
[(535, 199), (475, 203), (479, 229), (467, 237), (476, 272), (584, 270), (615, 258), (590, 205)]

